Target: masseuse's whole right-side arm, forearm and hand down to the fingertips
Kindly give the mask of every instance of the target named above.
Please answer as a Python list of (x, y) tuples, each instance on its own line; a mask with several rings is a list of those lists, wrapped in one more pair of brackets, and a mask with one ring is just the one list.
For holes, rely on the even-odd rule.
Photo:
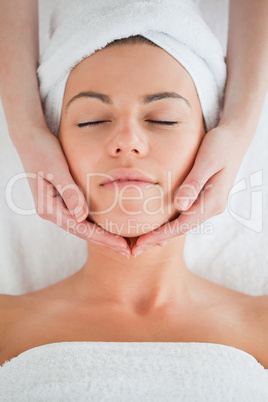
[(189, 205), (178, 207), (184, 212), (176, 220), (139, 237), (133, 255), (138, 246), (163, 243), (225, 209), (267, 93), (267, 15), (267, 0), (230, 0), (223, 113), (218, 126), (203, 138), (194, 166), (176, 194), (186, 197), (185, 203), (189, 198)]

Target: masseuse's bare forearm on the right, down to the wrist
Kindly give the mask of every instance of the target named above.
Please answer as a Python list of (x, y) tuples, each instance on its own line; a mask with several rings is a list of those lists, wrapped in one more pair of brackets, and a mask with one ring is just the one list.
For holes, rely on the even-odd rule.
[(221, 123), (233, 122), (254, 135), (268, 88), (267, 66), (267, 0), (230, 0)]

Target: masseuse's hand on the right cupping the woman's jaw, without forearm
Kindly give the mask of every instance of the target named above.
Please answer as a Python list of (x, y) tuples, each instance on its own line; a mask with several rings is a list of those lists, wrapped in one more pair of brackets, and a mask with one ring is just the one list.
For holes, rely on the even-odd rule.
[(132, 254), (156, 244), (163, 245), (163, 242), (222, 213), (251, 138), (251, 135), (231, 124), (219, 125), (206, 133), (193, 168), (175, 196), (175, 207), (185, 212), (140, 236), (132, 247)]

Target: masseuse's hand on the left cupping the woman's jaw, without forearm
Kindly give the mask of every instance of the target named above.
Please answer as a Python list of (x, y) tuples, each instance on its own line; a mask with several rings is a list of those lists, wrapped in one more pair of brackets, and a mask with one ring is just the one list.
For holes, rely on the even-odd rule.
[(123, 237), (88, 222), (88, 206), (75, 184), (58, 139), (49, 129), (36, 129), (20, 148), (20, 158), (34, 198), (37, 214), (84, 240), (130, 254)]

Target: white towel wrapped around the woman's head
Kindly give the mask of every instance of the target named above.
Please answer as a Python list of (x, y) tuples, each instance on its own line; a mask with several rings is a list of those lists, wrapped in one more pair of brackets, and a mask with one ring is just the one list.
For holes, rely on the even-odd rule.
[(54, 10), (51, 38), (38, 76), (44, 113), (58, 135), (72, 68), (115, 39), (142, 35), (170, 53), (191, 75), (206, 129), (218, 123), (226, 80), (223, 50), (191, 0), (77, 0)]

